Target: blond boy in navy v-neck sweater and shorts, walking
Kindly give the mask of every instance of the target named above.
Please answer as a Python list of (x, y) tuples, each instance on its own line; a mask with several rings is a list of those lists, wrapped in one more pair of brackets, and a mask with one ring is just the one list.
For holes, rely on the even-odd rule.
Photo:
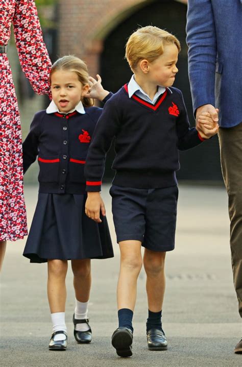
[(132, 317), (142, 263), (147, 274), (148, 348), (167, 349), (161, 310), (165, 253), (175, 246), (178, 150), (193, 148), (218, 129), (216, 125), (206, 130), (212, 124), (207, 114), (201, 116), (203, 133), (189, 127), (182, 93), (170, 88), (179, 52), (178, 39), (157, 27), (140, 28), (130, 36), (126, 58), (134, 75), (106, 103), (86, 160), (86, 214), (100, 223), (100, 210), (105, 215), (100, 196), (105, 155), (115, 137), (116, 174), (110, 194), (121, 261), (119, 326), (112, 345), (122, 357), (132, 355)]

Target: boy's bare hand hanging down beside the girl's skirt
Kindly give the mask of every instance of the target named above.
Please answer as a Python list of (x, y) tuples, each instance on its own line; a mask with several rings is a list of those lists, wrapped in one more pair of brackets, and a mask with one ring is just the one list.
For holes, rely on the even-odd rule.
[(99, 192), (88, 192), (85, 205), (86, 215), (96, 223), (101, 223), (100, 210), (103, 216), (106, 215), (105, 205)]

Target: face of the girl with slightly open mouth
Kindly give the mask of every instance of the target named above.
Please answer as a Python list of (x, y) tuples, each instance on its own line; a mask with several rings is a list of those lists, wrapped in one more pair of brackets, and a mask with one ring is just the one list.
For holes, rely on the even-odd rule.
[(89, 85), (82, 85), (74, 71), (57, 70), (51, 76), (53, 101), (60, 112), (74, 109), (89, 90)]

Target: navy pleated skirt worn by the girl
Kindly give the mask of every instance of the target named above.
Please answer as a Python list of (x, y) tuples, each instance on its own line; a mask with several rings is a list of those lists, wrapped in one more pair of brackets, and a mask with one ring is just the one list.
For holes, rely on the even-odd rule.
[(30, 262), (113, 257), (107, 219), (98, 224), (86, 216), (86, 197), (39, 192), (23, 256)]

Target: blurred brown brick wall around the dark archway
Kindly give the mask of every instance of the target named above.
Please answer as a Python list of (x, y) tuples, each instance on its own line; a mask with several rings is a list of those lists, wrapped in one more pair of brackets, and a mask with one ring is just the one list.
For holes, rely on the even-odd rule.
[(106, 35), (120, 21), (152, 1), (60, 0), (58, 56), (75, 54), (87, 62), (89, 73), (94, 76), (99, 72), (99, 55)]

